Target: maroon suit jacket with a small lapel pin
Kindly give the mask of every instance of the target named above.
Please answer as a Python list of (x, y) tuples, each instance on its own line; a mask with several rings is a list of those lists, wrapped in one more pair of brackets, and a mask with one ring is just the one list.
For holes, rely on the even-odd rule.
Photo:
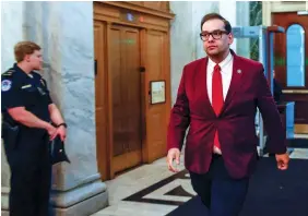
[(208, 96), (208, 57), (185, 65), (170, 113), (167, 149), (181, 149), (189, 127), (185, 148), (186, 168), (196, 173), (205, 173), (217, 130), (225, 167), (233, 178), (239, 179), (252, 173), (258, 159), (254, 128), (257, 107), (269, 135), (268, 151), (283, 154), (286, 145), (285, 131), (263, 65), (232, 53), (233, 76), (220, 116), (215, 115)]

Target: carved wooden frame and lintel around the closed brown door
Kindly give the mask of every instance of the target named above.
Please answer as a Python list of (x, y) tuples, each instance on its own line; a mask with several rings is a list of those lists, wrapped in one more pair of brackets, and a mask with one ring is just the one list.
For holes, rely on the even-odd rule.
[[(174, 19), (175, 14), (168, 13), (168, 12), (163, 12), (163, 11), (157, 11), (157, 10), (152, 10), (152, 9), (146, 9), (144, 7), (139, 7), (130, 2), (93, 2), (93, 19), (94, 23), (95, 22), (103, 22), (106, 24), (106, 41), (109, 41), (110, 38), (110, 28), (112, 24), (115, 25), (122, 25), (127, 27), (137, 27), (140, 29), (140, 55), (141, 55), (141, 65), (144, 65), (146, 68), (146, 31), (149, 29), (156, 29), (161, 31), (164, 33), (167, 33), (169, 37), (169, 22), (170, 20)], [(132, 14), (138, 14), (140, 16), (144, 17), (144, 21), (139, 21), (139, 22), (128, 22), (123, 19), (123, 14), (126, 13), (132, 13)], [(110, 117), (112, 116), (112, 98), (111, 98), (111, 76), (108, 75), (110, 74), (110, 65), (108, 64), (108, 56), (110, 53), (110, 49), (108, 46), (108, 43), (106, 43), (106, 47), (104, 47), (106, 50), (106, 59), (104, 62), (104, 77), (106, 77), (106, 84), (107, 84), (107, 113), (106, 116), (106, 125), (107, 125), (107, 135), (102, 143), (96, 143), (96, 145), (106, 145), (106, 146), (100, 146), (99, 148), (107, 149), (104, 158), (105, 161), (97, 161), (98, 167), (103, 166), (104, 173), (106, 176), (102, 176), (102, 180), (107, 180), (107, 179), (114, 179), (115, 178), (115, 164), (112, 163), (112, 121)], [(170, 53), (170, 48), (167, 48), (167, 53)], [(167, 60), (167, 68), (166, 68), (166, 111), (170, 111), (170, 60)], [(146, 84), (146, 74), (141, 73), (141, 145), (142, 145), (142, 163), (151, 163), (153, 159), (149, 157), (149, 151), (151, 151), (151, 143), (147, 142), (146, 139), (146, 107), (147, 107), (147, 94), (149, 94), (149, 86)], [(166, 119), (166, 122), (168, 119)], [(97, 147), (98, 148), (98, 147)], [(100, 153), (96, 153), (100, 154)], [(104, 154), (104, 153), (103, 153)], [(163, 155), (162, 155), (163, 156)], [(99, 156), (100, 158), (103, 157), (102, 155)], [(102, 165), (99, 165), (102, 163)]]

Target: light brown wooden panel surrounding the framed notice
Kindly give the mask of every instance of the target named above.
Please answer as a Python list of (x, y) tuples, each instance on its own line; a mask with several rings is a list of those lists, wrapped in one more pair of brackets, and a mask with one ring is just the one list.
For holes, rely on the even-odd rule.
[[(166, 154), (167, 124), (170, 111), (168, 35), (159, 31), (144, 31), (146, 95), (146, 151), (144, 159), (151, 163)], [(165, 82), (166, 100), (151, 104), (151, 82)]]

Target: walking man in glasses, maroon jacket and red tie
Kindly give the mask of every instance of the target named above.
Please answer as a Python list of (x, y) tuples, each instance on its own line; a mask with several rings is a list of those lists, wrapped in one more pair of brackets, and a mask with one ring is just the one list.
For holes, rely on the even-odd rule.
[(229, 49), (228, 21), (205, 15), (200, 37), (208, 53), (183, 68), (168, 128), (168, 169), (178, 171), (186, 130), (185, 165), (211, 216), (237, 216), (258, 159), (257, 107), (269, 134), (266, 148), (287, 169), (285, 131), (259, 62)]

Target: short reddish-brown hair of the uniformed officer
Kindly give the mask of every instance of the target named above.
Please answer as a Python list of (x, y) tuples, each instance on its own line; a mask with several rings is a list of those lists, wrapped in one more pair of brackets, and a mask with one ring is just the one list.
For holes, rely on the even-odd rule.
[(14, 46), (15, 60), (21, 62), (26, 55), (32, 55), (35, 50), (40, 50), (40, 47), (33, 41), (20, 41)]

